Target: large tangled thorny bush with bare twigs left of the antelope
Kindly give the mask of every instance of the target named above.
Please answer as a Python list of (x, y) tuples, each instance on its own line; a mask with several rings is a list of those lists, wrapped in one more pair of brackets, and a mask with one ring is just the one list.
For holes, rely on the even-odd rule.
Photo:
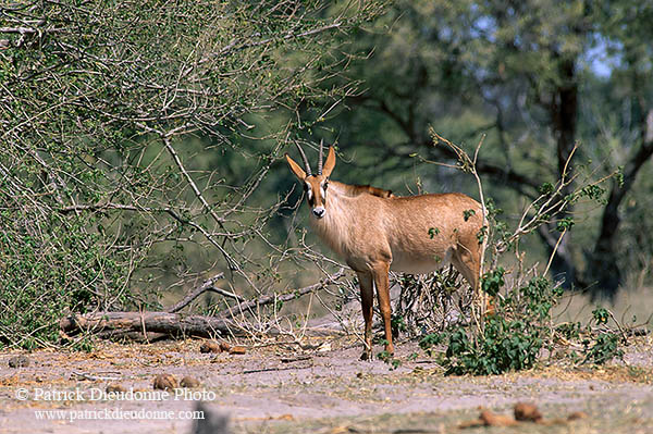
[(160, 309), (162, 293), (221, 272), (231, 297), (209, 313), (279, 289), (308, 249), (269, 232), (288, 207), (271, 168), (310, 139), (318, 121), (299, 111), (323, 119), (358, 91), (321, 86), (348, 67), (333, 51), (382, 11), (3, 2), (0, 346), (57, 345), (66, 312)]

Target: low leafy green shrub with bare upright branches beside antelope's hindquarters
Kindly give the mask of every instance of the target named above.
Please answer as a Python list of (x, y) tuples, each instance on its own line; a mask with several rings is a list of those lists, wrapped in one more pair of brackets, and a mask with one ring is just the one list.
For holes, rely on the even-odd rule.
[[(434, 138), (444, 140), (436, 134)], [(460, 169), (477, 177), (483, 197), (473, 161), (459, 147), (444, 141), (459, 156), (460, 161), (465, 162), (460, 164)], [(555, 227), (562, 239), (575, 224), (572, 215), (567, 213), (568, 207), (582, 198), (604, 200), (605, 189), (600, 185), (611, 177), (618, 179), (619, 173), (615, 172), (601, 179), (593, 179), (591, 173), (583, 179), (579, 176), (578, 173), (574, 176), (565, 174), (556, 184), (545, 183), (540, 189), (541, 196), (526, 207), (517, 227), (512, 231), (506, 222), (498, 220), (502, 210), (491, 199), (485, 201), (486, 225), (479, 234), (479, 241), (488, 243), (485, 258), (490, 271), (483, 274), (480, 286), (493, 300), (493, 311), (477, 318), (476, 326), (470, 326), (475, 325), (471, 303), (458, 303), (454, 313), (430, 303), (429, 312), (422, 310), (422, 315), (415, 315), (412, 305), (403, 301), (417, 297), (420, 301), (434, 299), (444, 307), (451, 306), (452, 289), (460, 288), (459, 283), (449, 282), (451, 273), (436, 273), (435, 277), (421, 281), (403, 280), (403, 283), (408, 285), (405, 285), (402, 292), (403, 297), (398, 303), (401, 310), (397, 315), (408, 320), (407, 328), (421, 328), (420, 347), (427, 354), (436, 357), (447, 374), (488, 375), (530, 369), (540, 360), (544, 354), (543, 349), (547, 349), (550, 355), (554, 352), (556, 345), (560, 345), (558, 337), (562, 335), (567, 339), (567, 345), (570, 344), (569, 339), (582, 343), (574, 346), (583, 348), (581, 354), (568, 351), (572, 362), (605, 363), (623, 356), (619, 349), (621, 342), (615, 333), (595, 333), (591, 330), (591, 324), (583, 330), (580, 324), (556, 327), (552, 309), (564, 295), (562, 285), (538, 276), (534, 266), (529, 272), (522, 272), (525, 256), (519, 252), (520, 238), (545, 223), (556, 221)], [(498, 265), (502, 255), (506, 251), (514, 252), (517, 258), (518, 263), (512, 272), (506, 272)], [(555, 253), (554, 250), (549, 264)], [(406, 307), (410, 309), (406, 310)], [(605, 309), (596, 309), (594, 321), (605, 324), (608, 314)]]

